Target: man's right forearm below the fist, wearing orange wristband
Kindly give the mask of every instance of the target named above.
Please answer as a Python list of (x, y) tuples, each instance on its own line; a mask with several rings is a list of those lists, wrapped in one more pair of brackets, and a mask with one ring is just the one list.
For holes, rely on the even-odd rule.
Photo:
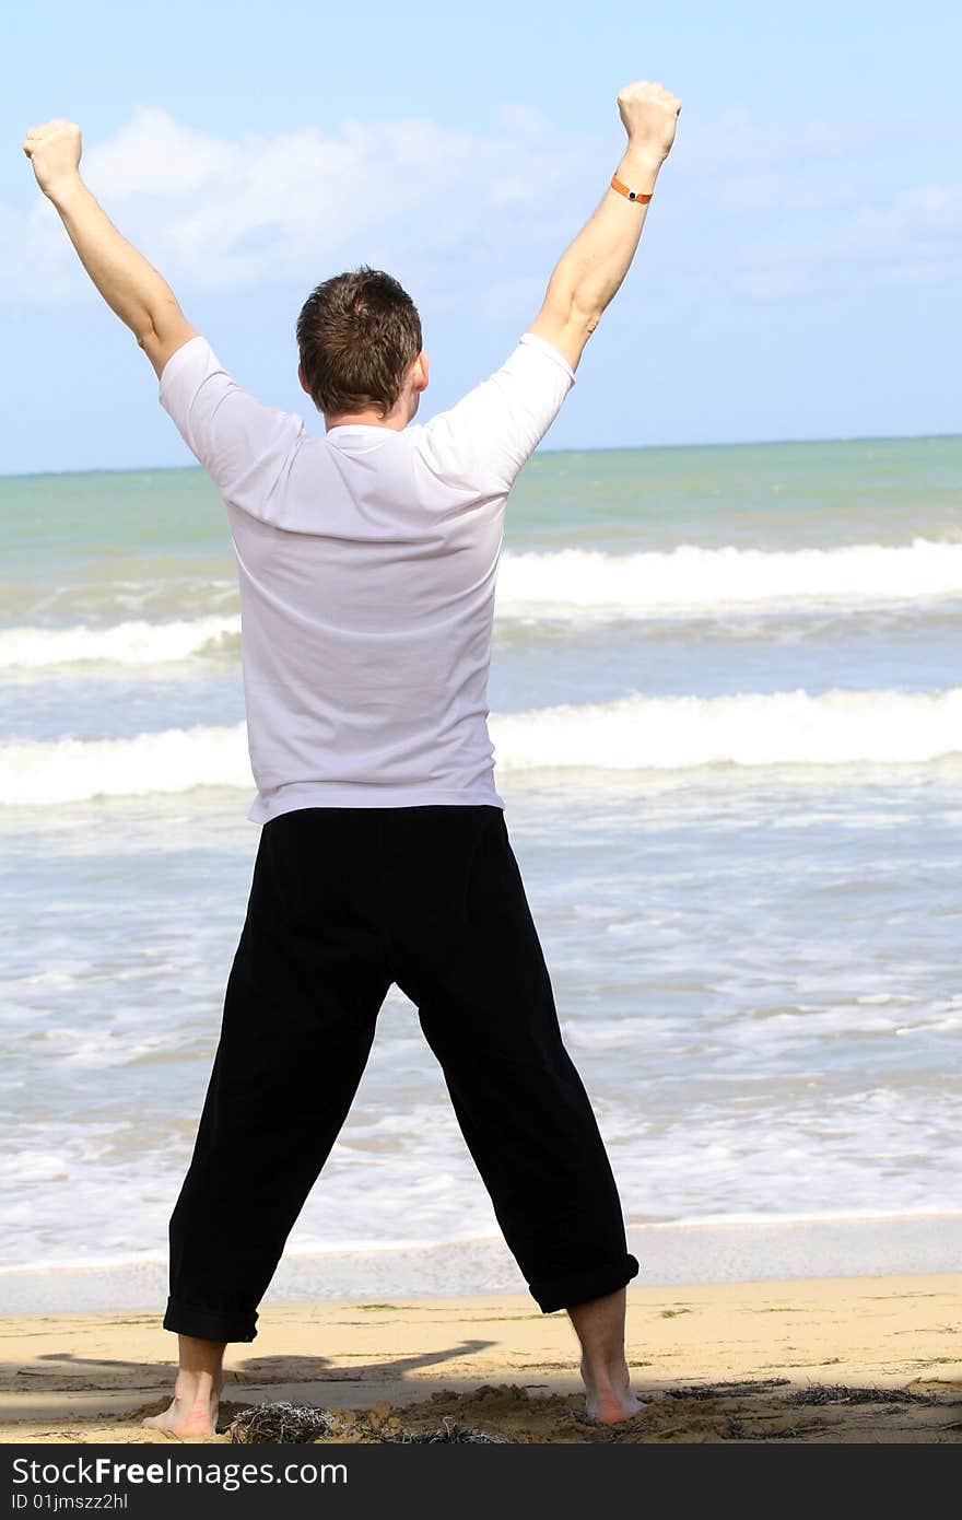
[[(661, 160), (650, 150), (625, 152), (617, 169), (623, 184), (641, 195), (655, 188)], [(591, 331), (625, 280), (635, 257), (647, 205), (628, 201), (611, 187), (594, 216), (561, 255), (549, 281), (547, 299), (578, 313)]]

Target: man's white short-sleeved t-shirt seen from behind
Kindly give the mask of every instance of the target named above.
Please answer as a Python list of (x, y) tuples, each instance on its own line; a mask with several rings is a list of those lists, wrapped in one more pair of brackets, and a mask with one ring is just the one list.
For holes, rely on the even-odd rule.
[(313, 435), (205, 337), (160, 401), (226, 505), (263, 824), (298, 807), (492, 803), (488, 664), (505, 499), (574, 383), (524, 333), (456, 406), (403, 432)]

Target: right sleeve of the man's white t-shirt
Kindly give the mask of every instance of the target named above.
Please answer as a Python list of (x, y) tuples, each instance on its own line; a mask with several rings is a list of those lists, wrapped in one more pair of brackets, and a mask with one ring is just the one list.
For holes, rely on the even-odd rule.
[(524, 333), (488, 380), (421, 429), (421, 453), (439, 479), (506, 494), (574, 385), (567, 359)]

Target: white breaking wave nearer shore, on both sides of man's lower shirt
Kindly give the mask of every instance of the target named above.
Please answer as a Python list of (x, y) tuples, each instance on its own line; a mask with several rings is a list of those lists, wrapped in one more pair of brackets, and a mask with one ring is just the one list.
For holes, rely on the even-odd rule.
[[(489, 719), (498, 771), (924, 765), (962, 752), (962, 687), (628, 696)], [(6, 804), (251, 789), (245, 725), (0, 746)]]

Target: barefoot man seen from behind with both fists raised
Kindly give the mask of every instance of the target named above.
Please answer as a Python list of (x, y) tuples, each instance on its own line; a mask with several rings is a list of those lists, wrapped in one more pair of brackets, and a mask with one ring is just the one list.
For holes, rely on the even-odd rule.
[[(544, 1313), (567, 1309), (588, 1415), (641, 1409), (625, 1360), (638, 1272), (494, 787), (486, 681), (511, 486), (638, 246), (681, 106), (619, 94), (628, 147), (506, 363), (412, 426), (413, 302), (337, 275), (298, 319), (324, 436), (223, 371), (79, 173), (68, 122), (24, 152), (160, 400), (226, 505), (261, 824), (190, 1170), (170, 1221), (173, 1435), (214, 1430), (228, 1342), (252, 1341), (284, 1242), (348, 1114), (392, 982), (441, 1061), (505, 1239)], [(255, 1145), (249, 1142), (255, 1140)]]

